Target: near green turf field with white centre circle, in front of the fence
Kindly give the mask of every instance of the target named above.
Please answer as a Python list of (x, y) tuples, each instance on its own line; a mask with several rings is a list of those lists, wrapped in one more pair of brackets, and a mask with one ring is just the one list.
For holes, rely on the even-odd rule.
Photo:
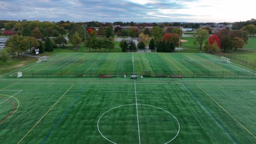
[(1, 143), (255, 143), (252, 79), (0, 79)]

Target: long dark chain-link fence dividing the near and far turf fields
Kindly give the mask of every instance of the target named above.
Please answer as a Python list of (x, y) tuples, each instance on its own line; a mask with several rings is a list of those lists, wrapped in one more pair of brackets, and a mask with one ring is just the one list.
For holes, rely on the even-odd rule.
[[(2, 71), (3, 77), (17, 77), (18, 71), (13, 71), (12, 73), (4, 73)], [(84, 71), (72, 70), (72, 71), (62, 71), (62, 70), (26, 70), (21, 71), (22, 77), (124, 77), (126, 75), (129, 77), (132, 71)], [(142, 71), (137, 73), (138, 76), (143, 77), (170, 77), (170, 78), (217, 78), (217, 79), (255, 79), (256, 71), (247, 70), (208, 70), (208, 71)]]

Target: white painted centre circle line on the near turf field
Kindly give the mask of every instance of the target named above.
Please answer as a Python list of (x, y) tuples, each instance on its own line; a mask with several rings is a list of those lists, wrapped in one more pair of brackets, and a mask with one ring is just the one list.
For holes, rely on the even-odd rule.
[[(109, 111), (112, 111), (112, 110), (117, 109), (117, 108), (119, 108), (119, 107), (131, 106), (131, 105), (136, 105), (136, 104), (121, 105), (121, 106), (113, 107), (112, 109), (110, 109), (110, 110), (104, 112), (104, 113), (100, 116), (100, 118), (98, 119), (97, 128), (98, 128), (98, 131), (100, 132), (100, 134), (102, 135), (102, 137), (104, 137), (104, 139), (108, 140), (109, 142), (116, 143), (116, 142), (114, 142), (114, 141), (112, 141), (112, 140), (109, 140), (106, 136), (104, 136), (104, 135), (101, 133), (101, 130), (100, 130), (100, 127), (99, 127), (99, 123), (100, 123), (101, 118), (102, 118), (106, 113), (108, 113)], [(172, 115), (172, 113), (170, 113), (170, 112), (168, 112), (168, 111), (166, 111), (166, 110), (164, 110), (164, 109), (162, 109), (162, 108), (160, 108), (160, 107), (153, 106), (153, 105), (144, 105), (144, 104), (137, 104), (137, 105), (154, 107), (154, 108), (156, 108), (156, 109), (165, 111), (166, 113), (168, 113), (169, 115), (171, 115), (171, 116), (176, 120), (176, 122), (177, 122), (177, 124), (178, 124), (178, 131), (177, 131), (177, 134), (176, 134), (174, 137), (172, 137), (171, 140), (165, 142), (164, 144), (171, 142), (172, 140), (174, 140), (174, 139), (178, 136), (179, 130), (180, 130), (179, 122), (178, 122), (178, 119)], [(116, 143), (116, 144), (117, 144), (117, 143)]]

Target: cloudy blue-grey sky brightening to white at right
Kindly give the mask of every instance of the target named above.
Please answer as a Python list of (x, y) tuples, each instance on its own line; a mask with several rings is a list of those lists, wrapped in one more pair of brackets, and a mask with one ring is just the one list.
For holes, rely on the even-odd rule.
[(0, 20), (236, 22), (255, 19), (254, 0), (0, 0)]

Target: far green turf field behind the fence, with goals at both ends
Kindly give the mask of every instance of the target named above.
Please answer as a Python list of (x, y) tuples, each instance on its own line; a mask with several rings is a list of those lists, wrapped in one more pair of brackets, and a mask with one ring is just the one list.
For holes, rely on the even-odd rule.
[(251, 69), (205, 53), (59, 53), (41, 63), (2, 73), (4, 77), (16, 77), (17, 71), (24, 77), (123, 77), (133, 69), (139, 76), (256, 77)]

